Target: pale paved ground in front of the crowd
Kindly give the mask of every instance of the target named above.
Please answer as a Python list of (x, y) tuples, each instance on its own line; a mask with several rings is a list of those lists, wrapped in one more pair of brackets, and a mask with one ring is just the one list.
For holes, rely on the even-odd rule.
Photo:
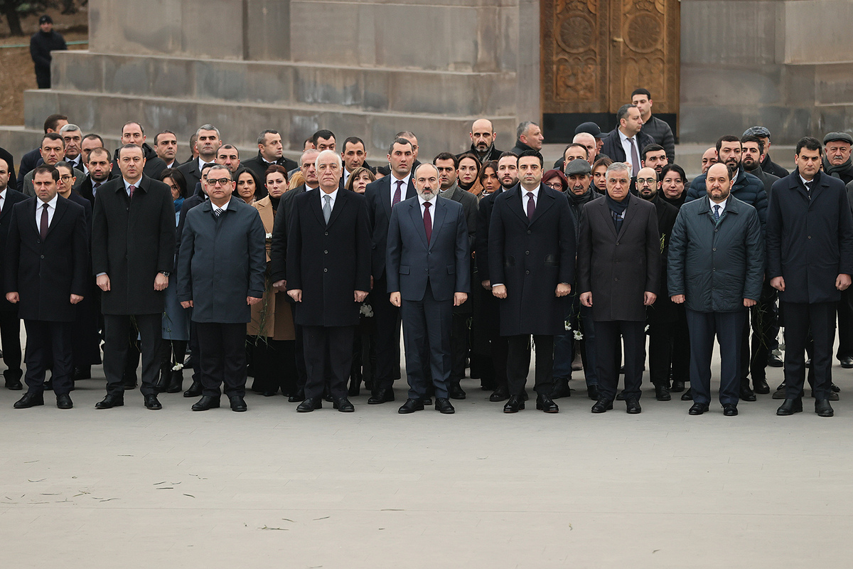
[[(297, 415), (281, 397), (193, 413), (12, 409), (0, 388), (0, 555), (8, 567), (849, 567), (853, 413), (776, 417), (769, 395), (641, 401), (591, 415), (581, 381), (559, 415), (503, 415), (465, 380), (456, 415)], [(715, 369), (716, 371), (716, 369)], [(779, 369), (770, 371), (775, 387)], [(189, 381), (187, 382), (189, 384)]]

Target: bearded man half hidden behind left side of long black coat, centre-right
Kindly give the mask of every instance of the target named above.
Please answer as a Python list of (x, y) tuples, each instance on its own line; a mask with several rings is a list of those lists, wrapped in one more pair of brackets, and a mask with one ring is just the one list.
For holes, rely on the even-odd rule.
[[(477, 233), (476, 233), (476, 263), (480, 278), (480, 286), (485, 288), (486, 294), (482, 296), (483, 328), (489, 331), (489, 345), (491, 354), (490, 371), (484, 372), (483, 389), (492, 389), (489, 401), (497, 403), (509, 398), (509, 387), (507, 385), (507, 339), (500, 334), (500, 305), (498, 300), (491, 294), (491, 276), (489, 265), (489, 224), (491, 213), (495, 209), (495, 200), (498, 195), (512, 189), (519, 183), (519, 157), (511, 152), (501, 154), (497, 160), (497, 177), (501, 187), (489, 195), (485, 195), (479, 202), (477, 210)], [(530, 366), (530, 350), (527, 351), (527, 365)], [(491, 381), (490, 381), (491, 380)]]

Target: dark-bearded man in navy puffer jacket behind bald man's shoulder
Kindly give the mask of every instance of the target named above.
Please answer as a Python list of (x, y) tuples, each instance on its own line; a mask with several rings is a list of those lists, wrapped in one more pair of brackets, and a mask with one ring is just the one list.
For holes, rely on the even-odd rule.
[[(758, 219), (761, 220), (762, 229), (767, 216), (767, 192), (764, 191), (764, 184), (757, 177), (748, 173), (745, 168), (740, 167), (740, 154), (742, 147), (740, 146), (740, 138), (737, 136), (725, 135), (721, 136), (717, 141), (717, 157), (724, 164), (728, 164), (734, 169), (731, 194), (738, 200), (745, 201), (750, 206), (754, 207), (758, 212)], [(697, 176), (688, 189), (688, 197), (686, 201), (698, 200), (705, 196), (705, 177), (707, 174)], [(749, 321), (746, 322), (746, 329), (743, 334), (743, 345), (740, 349), (740, 399), (742, 401), (755, 401), (755, 393), (752, 392), (749, 385)], [(758, 386), (761, 392), (764, 391), (766, 383), (762, 383), (759, 378)], [(692, 392), (691, 392), (692, 393)]]

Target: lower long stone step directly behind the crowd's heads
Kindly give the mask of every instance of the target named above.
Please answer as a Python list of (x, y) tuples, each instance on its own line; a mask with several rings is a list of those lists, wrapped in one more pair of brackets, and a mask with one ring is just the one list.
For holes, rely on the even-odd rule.
[[(237, 148), (257, 150), (258, 132), (272, 128), (281, 132), (288, 156), (298, 156), (305, 138), (328, 128), (342, 143), (346, 136), (359, 136), (368, 145), (368, 160), (385, 161), (387, 144), (398, 131), (413, 131), (419, 136), (421, 159), (444, 150), (459, 153), (470, 146), (467, 133), (476, 116), (436, 116), (414, 113), (380, 113), (333, 105), (270, 105), (138, 97), (82, 91), (28, 90), (25, 96), (26, 127), (40, 131), (44, 117), (51, 113), (67, 115), (86, 132), (118, 136), (128, 120), (139, 120), (148, 142), (164, 129), (174, 131), (179, 142), (200, 125), (211, 123), (222, 132), (223, 140)], [(497, 131), (505, 133), (505, 145), (514, 142), (515, 119), (492, 118)], [(512, 141), (510, 142), (510, 139)], [(38, 143), (38, 141), (37, 141)], [(32, 148), (32, 146), (30, 147)], [(509, 147), (507, 147), (509, 148)]]

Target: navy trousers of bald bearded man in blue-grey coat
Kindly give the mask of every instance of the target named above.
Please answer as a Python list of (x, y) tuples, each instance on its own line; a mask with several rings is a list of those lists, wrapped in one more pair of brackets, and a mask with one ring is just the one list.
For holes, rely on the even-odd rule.
[(720, 344), (720, 403), (740, 400), (740, 351), (746, 309), (735, 312), (696, 312), (686, 309), (690, 330), (690, 390), (693, 402), (711, 403), (711, 355), (714, 338)]

